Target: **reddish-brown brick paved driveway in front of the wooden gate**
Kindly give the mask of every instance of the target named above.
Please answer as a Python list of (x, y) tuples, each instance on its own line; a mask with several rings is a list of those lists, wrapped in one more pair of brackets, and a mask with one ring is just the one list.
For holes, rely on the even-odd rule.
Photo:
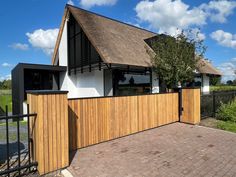
[(81, 177), (236, 177), (236, 134), (174, 123), (76, 152)]

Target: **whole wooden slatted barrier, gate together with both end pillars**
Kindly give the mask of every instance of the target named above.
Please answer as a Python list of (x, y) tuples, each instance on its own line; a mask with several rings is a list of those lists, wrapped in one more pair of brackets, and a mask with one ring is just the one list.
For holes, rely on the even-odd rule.
[[(200, 89), (179, 93), (67, 100), (67, 92), (28, 93), (33, 160), (40, 175), (69, 165), (69, 150), (181, 121), (200, 121)], [(179, 116), (182, 100), (183, 114)], [(32, 150), (32, 149), (31, 149)]]

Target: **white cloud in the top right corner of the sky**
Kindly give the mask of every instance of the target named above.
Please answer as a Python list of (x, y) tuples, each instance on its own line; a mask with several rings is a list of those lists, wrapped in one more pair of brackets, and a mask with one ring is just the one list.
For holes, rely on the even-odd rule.
[(225, 23), (227, 17), (233, 14), (236, 2), (230, 0), (210, 1), (208, 4), (202, 4), (200, 8), (208, 13), (211, 21)]

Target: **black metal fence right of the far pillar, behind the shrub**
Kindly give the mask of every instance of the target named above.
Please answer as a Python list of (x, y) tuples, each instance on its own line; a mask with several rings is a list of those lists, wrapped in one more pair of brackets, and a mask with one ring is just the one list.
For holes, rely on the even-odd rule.
[(229, 103), (236, 98), (234, 91), (213, 91), (201, 95), (201, 118), (215, 117), (217, 109), (222, 103)]

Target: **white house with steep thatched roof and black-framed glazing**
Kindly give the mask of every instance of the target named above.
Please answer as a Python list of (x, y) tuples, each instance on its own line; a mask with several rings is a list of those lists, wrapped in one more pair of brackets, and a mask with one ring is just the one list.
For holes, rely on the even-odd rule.
[[(151, 46), (146, 42), (156, 35), (148, 30), (66, 5), (52, 56), (52, 66), (41, 65), (38, 68), (44, 69), (44, 73), (54, 71), (49, 79), (51, 87), (40, 86), (48, 81), (34, 84), (34, 87), (21, 85), (18, 97), (25, 94), (26, 90), (39, 88), (67, 90), (68, 98), (158, 93), (160, 80), (152, 72), (148, 54)], [(195, 82), (203, 92), (209, 92), (209, 78), (220, 76), (221, 73), (206, 60), (201, 59), (201, 62), (204, 65), (196, 71)], [(32, 74), (32, 66), (30, 73), (35, 75)], [(12, 75), (14, 78), (14, 75), (22, 73), (16, 71)], [(54, 87), (53, 80), (56, 81)], [(36, 79), (33, 82), (38, 81)], [(16, 88), (20, 87), (19, 84), (13, 80)], [(17, 99), (13, 95), (13, 112), (14, 100)]]

